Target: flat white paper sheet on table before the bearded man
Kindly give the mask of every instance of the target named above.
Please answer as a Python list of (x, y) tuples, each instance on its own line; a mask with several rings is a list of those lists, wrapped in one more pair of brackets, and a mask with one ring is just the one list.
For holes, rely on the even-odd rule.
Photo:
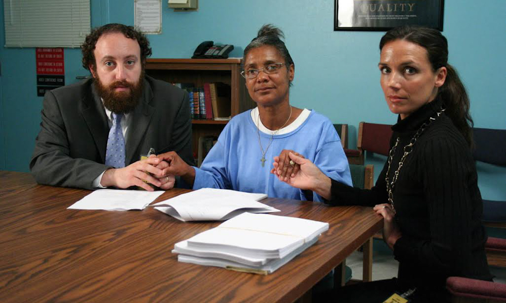
[(68, 209), (106, 211), (143, 210), (162, 193), (164, 193), (163, 190), (97, 189), (68, 207)]

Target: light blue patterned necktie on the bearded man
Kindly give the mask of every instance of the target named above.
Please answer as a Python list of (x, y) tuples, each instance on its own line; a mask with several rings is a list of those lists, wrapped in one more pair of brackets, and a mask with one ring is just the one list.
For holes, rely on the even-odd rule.
[(123, 114), (112, 113), (112, 126), (107, 138), (105, 165), (115, 168), (125, 167), (125, 138), (121, 130)]

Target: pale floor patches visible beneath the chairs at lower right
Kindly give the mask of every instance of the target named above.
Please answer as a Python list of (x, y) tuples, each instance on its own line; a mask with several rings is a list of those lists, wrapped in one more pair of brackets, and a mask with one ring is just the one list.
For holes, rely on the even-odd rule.
[[(355, 251), (346, 259), (346, 265), (352, 269), (352, 279), (362, 280), (362, 252)], [(392, 252), (381, 240), (374, 240), (372, 254), (372, 280), (390, 279), (397, 276), (398, 262)], [(494, 281), (506, 283), (506, 269), (490, 267)]]

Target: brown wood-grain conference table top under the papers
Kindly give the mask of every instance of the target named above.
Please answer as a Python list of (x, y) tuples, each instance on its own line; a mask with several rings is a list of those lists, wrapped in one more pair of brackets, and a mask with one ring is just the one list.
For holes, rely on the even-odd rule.
[(370, 208), (262, 200), (276, 214), (330, 225), (315, 245), (262, 276), (177, 261), (174, 243), (219, 222), (185, 223), (151, 208), (67, 210), (88, 193), (0, 171), (0, 302), (291, 302), (382, 227)]

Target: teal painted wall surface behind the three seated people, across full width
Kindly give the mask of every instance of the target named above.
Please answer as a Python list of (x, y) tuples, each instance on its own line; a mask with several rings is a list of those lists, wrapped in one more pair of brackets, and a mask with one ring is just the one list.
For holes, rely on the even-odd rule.
[[(93, 26), (134, 23), (133, 1), (91, 3)], [(230, 56), (242, 57), (258, 29), (273, 23), (284, 31), (296, 65), (292, 105), (315, 109), (334, 123), (348, 123), (351, 147), (356, 146), (360, 121), (395, 123), (379, 86), (378, 43), (383, 32), (333, 31), (333, 1), (201, 0), (199, 5), (197, 12), (174, 12), (162, 1), (162, 34), (149, 35), (152, 58), (190, 58), (203, 40), (233, 44)], [(506, 30), (505, 15), (504, 0), (445, 2), (443, 34), (449, 41), (449, 61), (468, 88), (477, 127), (506, 129), (506, 39), (498, 34)], [(3, 14), (0, 20), (4, 31)], [(35, 96), (34, 49), (0, 47), (0, 58), (4, 64), (0, 114), (9, 159), (0, 168), (27, 171), (42, 101)], [(65, 49), (65, 69), (66, 83), (87, 74), (80, 67), (78, 49)], [(376, 166), (376, 173), (380, 169)], [(486, 167), (480, 172), (484, 197), (504, 199), (504, 184), (506, 169)]]

